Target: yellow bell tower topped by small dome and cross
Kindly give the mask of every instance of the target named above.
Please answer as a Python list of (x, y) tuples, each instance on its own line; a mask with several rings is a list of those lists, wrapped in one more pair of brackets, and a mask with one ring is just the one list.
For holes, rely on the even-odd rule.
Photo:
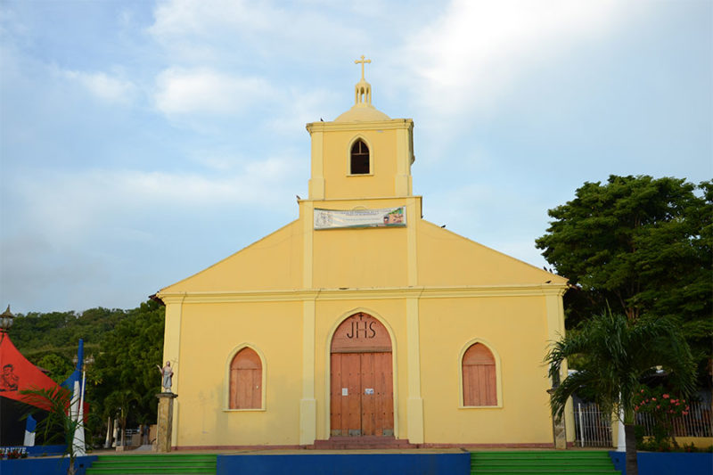
[(332, 122), (312, 122), (309, 200), (360, 200), (412, 196), (414, 121), (390, 119), (372, 105), (372, 86), (362, 77), (354, 105)]

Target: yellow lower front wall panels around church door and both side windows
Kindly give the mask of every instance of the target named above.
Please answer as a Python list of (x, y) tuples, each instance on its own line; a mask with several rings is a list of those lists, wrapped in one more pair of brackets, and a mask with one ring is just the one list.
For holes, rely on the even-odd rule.
[[(542, 297), (419, 301), (424, 440), (432, 444), (546, 444), (552, 439), (542, 358)], [(348, 315), (365, 311), (391, 332), (395, 434), (408, 438), (406, 299), (316, 299), (316, 438), (329, 438), (329, 348)], [(302, 391), (299, 300), (184, 304), (177, 446), (297, 446)], [(498, 358), (498, 406), (464, 408), (459, 356), (472, 340)], [(242, 344), (265, 357), (264, 411), (226, 411), (230, 357)], [(487, 430), (484, 430), (487, 428)]]

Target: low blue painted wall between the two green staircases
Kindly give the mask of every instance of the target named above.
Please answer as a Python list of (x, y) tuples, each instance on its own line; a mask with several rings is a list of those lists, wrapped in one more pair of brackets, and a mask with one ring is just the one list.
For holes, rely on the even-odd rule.
[[(339, 454), (218, 455), (217, 475), (469, 475), (471, 455)], [(4, 474), (3, 474), (4, 475)], [(710, 475), (710, 474), (707, 474)]]

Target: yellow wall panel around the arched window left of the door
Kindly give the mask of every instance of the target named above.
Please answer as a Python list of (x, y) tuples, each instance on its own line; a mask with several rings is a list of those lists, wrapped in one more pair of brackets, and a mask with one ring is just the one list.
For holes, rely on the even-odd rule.
[[(297, 445), (301, 331), (297, 302), (186, 304), (176, 364), (177, 446)], [(227, 410), (227, 367), (249, 343), (265, 357), (265, 410)]]

